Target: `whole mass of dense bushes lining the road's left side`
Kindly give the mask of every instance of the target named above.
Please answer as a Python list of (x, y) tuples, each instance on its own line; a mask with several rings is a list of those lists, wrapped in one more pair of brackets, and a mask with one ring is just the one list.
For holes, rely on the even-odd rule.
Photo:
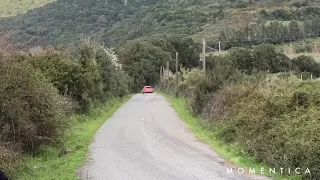
[[(117, 56), (96, 42), (0, 54), (0, 166), (14, 173), (21, 153), (61, 145), (69, 115), (129, 92)], [(61, 142), (63, 143), (63, 142)]]

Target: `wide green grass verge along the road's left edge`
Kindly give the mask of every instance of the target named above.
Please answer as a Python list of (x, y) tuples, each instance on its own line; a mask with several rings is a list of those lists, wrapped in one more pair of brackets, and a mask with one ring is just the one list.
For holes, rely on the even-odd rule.
[[(88, 146), (96, 131), (131, 96), (114, 98), (108, 103), (92, 109), (87, 115), (72, 116), (70, 120), (74, 122), (74, 125), (63, 138), (63, 145), (59, 147), (45, 146), (39, 155), (24, 157), (22, 166), (17, 169), (14, 179), (78, 179), (77, 170), (85, 163)], [(71, 152), (59, 157), (60, 150), (64, 147)]]

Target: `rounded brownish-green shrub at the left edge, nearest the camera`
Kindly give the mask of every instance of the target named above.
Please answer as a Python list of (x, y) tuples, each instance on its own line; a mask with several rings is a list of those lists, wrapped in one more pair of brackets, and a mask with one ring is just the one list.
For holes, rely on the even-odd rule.
[(44, 76), (27, 62), (0, 59), (1, 141), (25, 152), (56, 142), (68, 126), (65, 102)]

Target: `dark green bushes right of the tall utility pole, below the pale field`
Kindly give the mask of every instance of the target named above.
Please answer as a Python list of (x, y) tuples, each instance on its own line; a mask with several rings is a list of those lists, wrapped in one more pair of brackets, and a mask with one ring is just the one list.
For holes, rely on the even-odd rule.
[(225, 64), (222, 64), (221, 68), (217, 68), (213, 72), (223, 69), (222, 73), (232, 74), (234, 68), (236, 68), (243, 73), (251, 75), (257, 72), (279, 73), (293, 71), (311, 73), (314, 77), (320, 76), (320, 64), (312, 57), (299, 56), (290, 59), (286, 55), (276, 52), (275, 47), (268, 44), (257, 46), (253, 50), (233, 50), (226, 56), (209, 56), (207, 68), (212, 70), (214, 62), (224, 62)]

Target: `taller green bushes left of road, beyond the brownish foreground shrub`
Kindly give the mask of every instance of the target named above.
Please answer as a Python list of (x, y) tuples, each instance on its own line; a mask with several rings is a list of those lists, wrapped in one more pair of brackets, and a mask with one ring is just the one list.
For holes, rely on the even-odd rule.
[(71, 97), (81, 112), (111, 96), (129, 92), (130, 78), (120, 70), (117, 55), (96, 42), (83, 39), (73, 49), (48, 48), (19, 55), (39, 69), (60, 95)]

